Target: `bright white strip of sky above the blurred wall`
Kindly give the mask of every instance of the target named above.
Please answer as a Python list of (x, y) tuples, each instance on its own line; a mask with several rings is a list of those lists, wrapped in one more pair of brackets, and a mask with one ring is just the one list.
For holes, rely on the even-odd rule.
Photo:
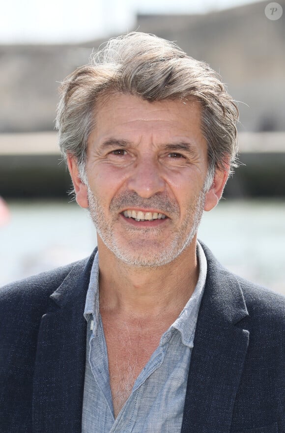
[(136, 13), (206, 13), (258, 0), (10, 0), (0, 44), (73, 43), (133, 30)]

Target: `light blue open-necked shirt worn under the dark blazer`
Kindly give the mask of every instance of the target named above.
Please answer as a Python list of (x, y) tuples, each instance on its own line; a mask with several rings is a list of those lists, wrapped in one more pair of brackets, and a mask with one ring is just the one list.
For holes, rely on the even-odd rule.
[(84, 311), (87, 342), (82, 433), (180, 433), (191, 352), (207, 273), (207, 261), (199, 243), (197, 257), (199, 279), (191, 298), (162, 335), (159, 346), (114, 419), (107, 346), (99, 312), (96, 254)]

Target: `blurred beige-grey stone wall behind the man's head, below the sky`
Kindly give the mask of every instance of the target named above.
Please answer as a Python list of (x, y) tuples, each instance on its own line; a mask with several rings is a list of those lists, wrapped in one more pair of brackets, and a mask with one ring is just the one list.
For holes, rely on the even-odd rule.
[[(277, 21), (266, 18), (267, 3), (205, 15), (139, 15), (134, 29), (177, 41), (219, 71), (243, 102), (240, 131), (284, 131), (285, 0)], [(58, 83), (102, 42), (0, 46), (0, 133), (52, 130)]]

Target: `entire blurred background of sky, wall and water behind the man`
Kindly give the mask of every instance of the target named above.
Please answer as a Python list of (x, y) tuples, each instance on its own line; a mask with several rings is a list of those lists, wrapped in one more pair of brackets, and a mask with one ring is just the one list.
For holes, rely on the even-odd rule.
[(57, 91), (92, 51), (131, 30), (176, 41), (240, 101), (242, 164), (204, 213), (199, 238), (233, 272), (285, 294), (285, 0), (3, 3), (0, 285), (84, 258), (96, 245), (88, 213), (67, 195)]

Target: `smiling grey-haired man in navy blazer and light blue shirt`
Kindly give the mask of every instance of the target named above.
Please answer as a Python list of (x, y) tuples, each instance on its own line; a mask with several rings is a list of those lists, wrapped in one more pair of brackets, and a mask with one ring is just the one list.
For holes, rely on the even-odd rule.
[(1, 290), (2, 433), (285, 432), (285, 300), (197, 241), (236, 120), (219, 77), (153, 35), (64, 81), (59, 144), (98, 249)]

